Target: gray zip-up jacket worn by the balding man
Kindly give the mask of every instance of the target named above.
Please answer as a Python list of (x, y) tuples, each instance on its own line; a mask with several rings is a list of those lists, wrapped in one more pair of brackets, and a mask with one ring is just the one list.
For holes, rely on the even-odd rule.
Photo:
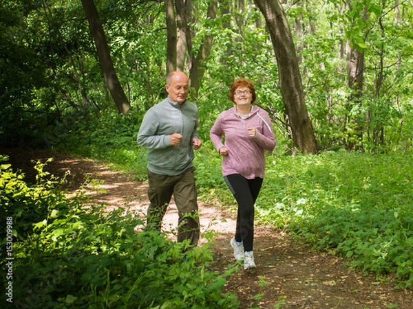
[[(178, 175), (193, 166), (192, 139), (199, 139), (198, 107), (188, 100), (180, 106), (169, 97), (149, 108), (138, 132), (138, 144), (148, 148), (147, 167), (151, 172)], [(180, 133), (182, 141), (172, 146), (169, 137)]]

